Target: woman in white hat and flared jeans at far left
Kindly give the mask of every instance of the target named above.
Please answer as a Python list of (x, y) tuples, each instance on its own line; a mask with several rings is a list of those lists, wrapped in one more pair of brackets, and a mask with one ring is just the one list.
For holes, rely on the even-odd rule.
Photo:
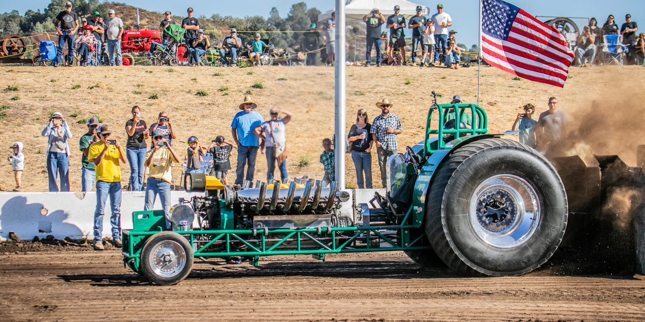
[[(72, 131), (61, 112), (52, 114), (41, 135), (49, 137), (47, 143), (49, 191), (70, 191), (70, 146), (67, 144), (67, 140), (72, 137)], [(58, 176), (61, 177), (60, 189), (56, 183)]]

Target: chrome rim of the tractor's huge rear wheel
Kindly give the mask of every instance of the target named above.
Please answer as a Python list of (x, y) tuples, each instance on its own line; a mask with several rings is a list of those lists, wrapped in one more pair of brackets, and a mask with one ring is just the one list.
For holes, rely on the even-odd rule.
[(515, 175), (492, 176), (470, 198), (470, 224), (486, 244), (510, 249), (526, 243), (540, 222), (541, 204), (533, 186)]

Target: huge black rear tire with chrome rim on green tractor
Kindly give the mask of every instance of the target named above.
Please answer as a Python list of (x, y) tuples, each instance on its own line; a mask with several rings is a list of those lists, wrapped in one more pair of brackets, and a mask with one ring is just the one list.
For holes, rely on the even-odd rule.
[(555, 169), (511, 140), (460, 147), (439, 166), (428, 195), (426, 235), (459, 274), (528, 273), (551, 258), (566, 228), (566, 193)]

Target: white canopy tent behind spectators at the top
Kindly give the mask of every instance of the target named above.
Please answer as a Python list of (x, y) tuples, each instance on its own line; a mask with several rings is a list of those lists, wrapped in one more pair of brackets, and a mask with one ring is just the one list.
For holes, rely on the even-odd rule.
[[(417, 4), (412, 3), (407, 0), (346, 0), (345, 1), (345, 17), (347, 23), (354, 23), (356, 21), (362, 21), (364, 15), (369, 14), (373, 8), (378, 8), (381, 10), (386, 18), (394, 13), (394, 6), (401, 6), (402, 15), (415, 15), (417, 14)], [(430, 8), (427, 6), (422, 6), (423, 11), (422, 15), (429, 15)], [(328, 12), (323, 12), (318, 15), (318, 21), (327, 21), (332, 19), (332, 12), (335, 10), (330, 10)]]

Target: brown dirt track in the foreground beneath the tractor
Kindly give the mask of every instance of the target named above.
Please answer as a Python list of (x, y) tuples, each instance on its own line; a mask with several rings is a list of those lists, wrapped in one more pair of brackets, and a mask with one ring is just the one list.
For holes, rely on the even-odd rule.
[(644, 276), (459, 278), (400, 252), (197, 263), (172, 287), (141, 281), (115, 250), (5, 253), (0, 272), (3, 321), (645, 319)]

